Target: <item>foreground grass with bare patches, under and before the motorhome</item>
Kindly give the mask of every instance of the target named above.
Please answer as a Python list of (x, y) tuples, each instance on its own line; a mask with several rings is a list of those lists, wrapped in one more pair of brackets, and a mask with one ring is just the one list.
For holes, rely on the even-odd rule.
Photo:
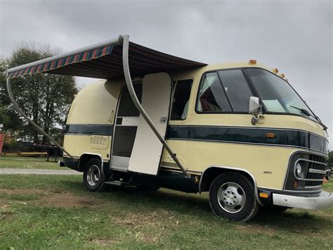
[(233, 223), (213, 215), (206, 194), (90, 193), (80, 175), (0, 175), (0, 249), (332, 249), (332, 230), (333, 208)]

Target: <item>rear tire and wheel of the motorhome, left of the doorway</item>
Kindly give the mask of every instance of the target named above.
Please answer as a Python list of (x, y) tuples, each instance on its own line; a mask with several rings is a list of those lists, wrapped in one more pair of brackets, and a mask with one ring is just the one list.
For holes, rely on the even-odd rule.
[(83, 182), (84, 187), (90, 192), (102, 192), (107, 189), (104, 182), (104, 175), (101, 170), (101, 161), (98, 158), (92, 158), (86, 163), (84, 168)]

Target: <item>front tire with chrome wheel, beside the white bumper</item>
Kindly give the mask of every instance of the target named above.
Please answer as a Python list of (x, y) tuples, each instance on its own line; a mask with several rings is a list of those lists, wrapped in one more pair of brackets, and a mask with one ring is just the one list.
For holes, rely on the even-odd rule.
[(254, 187), (238, 173), (223, 173), (216, 177), (209, 189), (209, 204), (218, 217), (249, 221), (259, 210)]

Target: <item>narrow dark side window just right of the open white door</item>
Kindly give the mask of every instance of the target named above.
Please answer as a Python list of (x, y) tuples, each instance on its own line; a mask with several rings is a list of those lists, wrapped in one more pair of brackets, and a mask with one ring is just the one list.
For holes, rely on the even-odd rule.
[(177, 82), (172, 102), (170, 120), (185, 120), (188, 115), (188, 101), (190, 100), (193, 80), (181, 80)]

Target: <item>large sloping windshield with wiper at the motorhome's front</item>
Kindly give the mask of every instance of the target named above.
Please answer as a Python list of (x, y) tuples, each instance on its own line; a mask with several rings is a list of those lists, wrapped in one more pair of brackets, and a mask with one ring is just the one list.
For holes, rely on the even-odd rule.
[(247, 68), (247, 73), (266, 111), (294, 113), (315, 120), (310, 108), (285, 80), (261, 68)]

